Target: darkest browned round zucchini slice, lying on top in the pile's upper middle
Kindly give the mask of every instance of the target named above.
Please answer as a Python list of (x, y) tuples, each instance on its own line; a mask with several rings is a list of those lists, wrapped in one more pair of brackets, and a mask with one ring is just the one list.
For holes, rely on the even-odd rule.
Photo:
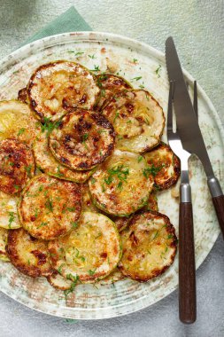
[(50, 133), (53, 155), (70, 169), (93, 169), (113, 150), (112, 124), (101, 114), (76, 109)]

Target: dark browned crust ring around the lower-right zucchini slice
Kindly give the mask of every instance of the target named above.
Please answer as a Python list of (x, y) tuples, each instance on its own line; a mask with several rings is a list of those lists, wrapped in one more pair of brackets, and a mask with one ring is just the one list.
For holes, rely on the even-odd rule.
[(138, 281), (138, 282), (148, 282), (151, 278), (156, 278), (159, 275), (163, 274), (171, 266), (171, 264), (174, 263), (174, 257), (176, 255), (177, 242), (178, 242), (178, 240), (176, 238), (174, 226), (173, 226), (172, 223), (170, 223), (170, 220), (169, 220), (168, 216), (165, 216), (165, 215), (163, 215), (159, 212), (156, 212), (156, 211), (143, 211), (143, 212), (140, 212), (139, 214), (133, 216), (133, 218), (130, 220), (128, 229), (123, 231), (123, 236), (124, 236), (124, 239), (122, 240), (122, 242), (123, 242), (123, 254), (126, 252), (126, 247), (125, 247), (124, 241), (126, 241), (127, 238), (132, 236), (134, 247), (135, 247), (135, 245), (138, 244), (138, 240), (137, 240), (137, 238), (135, 238), (135, 229), (132, 231), (132, 228), (135, 225), (135, 222), (143, 215), (149, 216), (149, 218), (152, 218), (152, 219), (155, 219), (157, 217), (163, 217), (164, 218), (164, 220), (166, 222), (166, 231), (167, 231), (168, 235), (170, 234), (172, 236), (172, 242), (169, 243), (169, 247), (171, 247), (174, 251), (173, 251), (172, 256), (170, 257), (170, 263), (165, 264), (163, 266), (163, 268), (158, 268), (158, 269), (155, 268), (154, 270), (151, 271), (151, 274), (149, 274), (145, 278), (137, 275), (137, 272), (135, 274), (128, 272), (128, 270), (123, 267), (122, 258), (121, 258), (120, 263), (118, 265), (119, 270), (127, 278), (132, 278), (132, 279), (134, 279), (135, 281)]

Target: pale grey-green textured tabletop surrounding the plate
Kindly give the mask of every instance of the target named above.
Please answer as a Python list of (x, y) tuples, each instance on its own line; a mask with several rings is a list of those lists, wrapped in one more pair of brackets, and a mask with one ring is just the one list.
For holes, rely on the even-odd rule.
[[(74, 5), (93, 30), (127, 35), (164, 51), (174, 36), (182, 65), (205, 89), (224, 123), (224, 3), (205, 0), (0, 0), (0, 57)], [(224, 335), (224, 244), (219, 238), (197, 270), (197, 322), (178, 320), (177, 292), (152, 307), (104, 321), (66, 322), (29, 310), (0, 294), (0, 336)]]

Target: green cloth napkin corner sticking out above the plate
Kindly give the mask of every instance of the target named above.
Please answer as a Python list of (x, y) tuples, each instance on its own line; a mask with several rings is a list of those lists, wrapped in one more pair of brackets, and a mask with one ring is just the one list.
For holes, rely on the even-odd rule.
[(88, 23), (81, 17), (80, 13), (74, 7), (70, 7), (66, 12), (59, 15), (58, 18), (51, 21), (47, 26), (43, 27), (35, 35), (28, 38), (25, 43), (31, 43), (42, 37), (56, 35), (66, 32), (76, 32), (81, 30), (92, 30)]

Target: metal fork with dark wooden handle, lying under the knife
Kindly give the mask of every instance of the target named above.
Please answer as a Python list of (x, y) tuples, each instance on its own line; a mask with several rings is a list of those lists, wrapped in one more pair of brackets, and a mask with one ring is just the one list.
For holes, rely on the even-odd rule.
[[(178, 134), (178, 125), (174, 131), (173, 101), (175, 83), (170, 82), (167, 111), (167, 140), (173, 152), (181, 160), (181, 186), (179, 208), (179, 315), (182, 323), (193, 323), (196, 320), (196, 270), (193, 213), (191, 189), (189, 184), (188, 161), (190, 153), (183, 149)], [(195, 84), (194, 98), (197, 86)], [(196, 106), (196, 102), (194, 103)]]

